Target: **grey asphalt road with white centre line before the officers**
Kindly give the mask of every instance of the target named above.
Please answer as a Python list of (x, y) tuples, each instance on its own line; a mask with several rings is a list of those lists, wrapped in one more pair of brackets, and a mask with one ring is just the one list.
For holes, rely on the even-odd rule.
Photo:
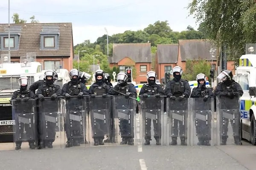
[(255, 170), (256, 147), (96, 146), (0, 151), (0, 170)]

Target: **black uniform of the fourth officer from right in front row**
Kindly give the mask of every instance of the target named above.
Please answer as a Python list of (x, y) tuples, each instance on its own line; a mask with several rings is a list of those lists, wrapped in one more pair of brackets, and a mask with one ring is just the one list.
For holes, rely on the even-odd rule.
[[(140, 93), (139, 95), (143, 95), (143, 94), (147, 94), (147, 95), (156, 95), (156, 94), (159, 94), (160, 95), (164, 95), (164, 91), (163, 91), (163, 88), (159, 85), (159, 84), (152, 84), (152, 85), (149, 85), (149, 84), (144, 84), (142, 86), (142, 88), (140, 89)], [(156, 104), (157, 107), (161, 107), (161, 103), (148, 103), (150, 104), (151, 106), (146, 106), (147, 108), (151, 108), (152, 105)], [(157, 122), (156, 120), (153, 120), (153, 125), (154, 125), (154, 138), (156, 139), (157, 141), (157, 144), (160, 144), (160, 138), (161, 138), (161, 123), (158, 122), (158, 124), (160, 124), (160, 126), (158, 125), (157, 126)], [(158, 127), (160, 127), (158, 129)], [(149, 144), (149, 141), (151, 140), (151, 119), (150, 118), (147, 118), (147, 126), (145, 128), (145, 144)]]

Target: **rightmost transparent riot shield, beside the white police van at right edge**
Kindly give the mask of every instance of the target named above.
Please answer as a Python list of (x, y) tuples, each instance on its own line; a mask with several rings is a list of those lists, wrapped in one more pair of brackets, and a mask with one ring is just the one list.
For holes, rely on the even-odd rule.
[(241, 114), (240, 100), (221, 96), (216, 98), (217, 129), (219, 136), (217, 144), (241, 144)]

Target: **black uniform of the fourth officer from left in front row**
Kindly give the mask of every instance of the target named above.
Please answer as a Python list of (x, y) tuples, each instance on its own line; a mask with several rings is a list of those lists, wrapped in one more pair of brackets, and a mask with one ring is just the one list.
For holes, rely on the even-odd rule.
[[(108, 86), (107, 84), (102, 82), (98, 82), (98, 83), (93, 83), (90, 88), (89, 88), (89, 94), (93, 96), (104, 96), (104, 95), (111, 95), (112, 93), (112, 89), (110, 86)], [(104, 103), (102, 103), (104, 104)], [(103, 107), (109, 107), (109, 106), (103, 106)], [(99, 128), (96, 130), (96, 133), (98, 134), (97, 137), (93, 136), (94, 139), (94, 145), (103, 145), (103, 139), (104, 139), (104, 132), (105, 130), (102, 129), (104, 127), (104, 121), (98, 119), (97, 120), (97, 125), (99, 126)]]

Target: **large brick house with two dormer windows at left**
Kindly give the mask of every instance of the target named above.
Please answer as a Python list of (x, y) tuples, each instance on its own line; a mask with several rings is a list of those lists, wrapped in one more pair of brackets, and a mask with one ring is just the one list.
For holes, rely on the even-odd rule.
[[(8, 24), (0, 24), (0, 55), (8, 54)], [(33, 52), (42, 69), (73, 68), (72, 23), (10, 24), (11, 62)]]

